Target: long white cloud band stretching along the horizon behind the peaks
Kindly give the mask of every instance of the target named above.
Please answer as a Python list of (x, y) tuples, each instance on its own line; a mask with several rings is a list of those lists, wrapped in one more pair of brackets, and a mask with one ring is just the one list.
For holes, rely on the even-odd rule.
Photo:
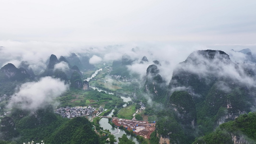
[[(133, 60), (137, 59), (131, 66), (128, 66), (128, 68), (131, 72), (139, 73), (141, 78), (146, 75), (146, 68), (150, 64), (153, 64), (153, 60), (158, 60), (161, 63), (161, 66), (158, 66), (158, 69), (160, 70), (159, 74), (163, 77), (164, 80), (166, 80), (167, 84), (171, 81), (172, 72), (177, 64), (186, 60), (187, 56), (195, 50), (224, 50), (230, 55), (230, 58), (234, 63), (243, 63), (246, 56), (243, 53), (235, 52), (245, 48), (245, 46), (205, 46), (190, 43), (179, 45), (152, 42), (111, 46), (91, 46), (87, 44), (39, 41), (17, 42), (10, 40), (1, 40), (0, 43), (1, 46), (3, 46), (0, 47), (0, 65), (2, 66), (7, 64), (7, 62), (13, 62), (15, 65), (18, 65), (19, 61), (27, 61), (29, 67), (33, 69), (34, 73), (40, 74), (45, 71), (48, 64), (47, 61), (49, 60), (49, 56), (51, 54), (55, 54), (57, 57), (69, 56), (71, 52), (74, 52), (78, 55), (86, 54), (92, 56), (89, 61), (92, 64), (96, 64), (102, 61), (111, 63), (113, 60), (121, 60), (122, 55), (126, 54), (129, 55)], [(234, 51), (231, 49), (234, 49)], [(251, 48), (251, 50), (252, 53), (256, 52), (256, 50), (253, 48)], [(149, 62), (139, 64), (143, 56), (146, 56)], [(198, 71), (199, 70), (200, 69), (198, 69)]]

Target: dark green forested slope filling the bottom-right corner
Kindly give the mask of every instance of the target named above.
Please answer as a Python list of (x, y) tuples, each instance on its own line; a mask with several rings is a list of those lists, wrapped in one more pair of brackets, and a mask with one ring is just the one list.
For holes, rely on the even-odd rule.
[(255, 144), (256, 112), (244, 114), (237, 119), (219, 125), (214, 132), (196, 138), (193, 144), (233, 144), (232, 136), (241, 144)]

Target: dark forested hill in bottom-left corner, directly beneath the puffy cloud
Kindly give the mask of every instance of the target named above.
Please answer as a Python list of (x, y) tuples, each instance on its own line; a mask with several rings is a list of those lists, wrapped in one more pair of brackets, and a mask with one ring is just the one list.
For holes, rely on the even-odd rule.
[[(62, 123), (65, 123), (68, 119), (63, 119), (61, 116), (53, 113), (53, 108), (51, 106), (46, 106), (45, 109), (39, 109), (34, 111), (33, 114), (30, 111), (24, 111), (20, 109), (13, 109), (11, 113), (12, 122), (8, 120), (7, 122), (15, 126), (14, 129), (4, 130), (1, 129), (1, 132), (6, 133), (2, 135), (5, 140), (12, 140), (13, 134), (19, 133), (20, 139), (18, 139), (18, 144), (28, 141), (41, 141), (49, 137), (52, 132), (54, 132)], [(2, 125), (4, 121), (1, 121)], [(13, 133), (13, 137), (8, 138), (8, 133)]]

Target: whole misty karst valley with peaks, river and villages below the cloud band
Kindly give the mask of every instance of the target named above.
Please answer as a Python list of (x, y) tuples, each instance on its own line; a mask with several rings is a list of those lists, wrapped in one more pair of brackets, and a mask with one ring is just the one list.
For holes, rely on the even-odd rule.
[[(215, 144), (251, 144), (255, 139), (255, 65), (235, 63), (224, 51), (198, 50), (176, 66), (168, 82), (166, 67), (146, 56), (124, 54), (95, 65), (88, 65), (89, 57), (85, 63), (80, 59), (52, 54), (40, 75), (11, 63), (0, 69), (3, 141), (212, 144), (218, 137)], [(146, 65), (143, 76), (130, 70), (134, 65)], [(249, 122), (240, 125), (241, 120)]]

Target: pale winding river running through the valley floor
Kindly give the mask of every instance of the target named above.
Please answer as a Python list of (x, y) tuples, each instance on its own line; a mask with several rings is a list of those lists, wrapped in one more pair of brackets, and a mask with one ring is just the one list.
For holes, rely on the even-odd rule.
[[(90, 78), (87, 78), (86, 81), (89, 82), (92, 78), (94, 78), (98, 74), (99, 71), (102, 71), (102, 69), (97, 70)], [(90, 86), (90, 87), (93, 88), (94, 90), (97, 89), (99, 92), (104, 91), (104, 90), (101, 90), (97, 87), (93, 87), (93, 86)], [(107, 93), (107, 94), (110, 94), (110, 95), (114, 95), (113, 93), (108, 93), (107, 91), (104, 91), (104, 92)], [(132, 100), (130, 97), (121, 96), (121, 98), (123, 99), (124, 102), (128, 102), (128, 101)], [(126, 107), (126, 104), (124, 104), (123, 107)], [(108, 117), (111, 117), (113, 112), (114, 112), (114, 109), (111, 111), (111, 113), (108, 115)], [(117, 140), (117, 142), (115, 142), (115, 144), (118, 144), (118, 142), (119, 142), (118, 138), (122, 137), (123, 134), (126, 134), (128, 139), (131, 139), (135, 144), (139, 144), (139, 141), (136, 138), (134, 138), (134, 136), (131, 136), (130, 134), (127, 134), (126, 132), (124, 132), (121, 129), (117, 129), (115, 127), (112, 127), (109, 124), (109, 120), (107, 118), (101, 118), (99, 120), (99, 125), (104, 130), (109, 130), (111, 132), (111, 134), (113, 134), (116, 137), (115, 139)]]

